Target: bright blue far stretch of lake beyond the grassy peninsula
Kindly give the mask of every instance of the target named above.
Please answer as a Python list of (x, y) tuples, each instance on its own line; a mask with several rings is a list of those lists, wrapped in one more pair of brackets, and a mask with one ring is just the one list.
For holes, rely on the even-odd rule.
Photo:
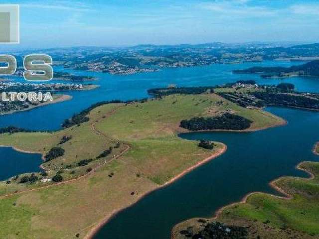
[[(0, 127), (14, 125), (35, 130), (57, 130), (64, 119), (86, 109), (90, 105), (107, 100), (132, 100), (148, 97), (147, 90), (155, 87), (177, 86), (215, 86), (237, 80), (256, 80), (259, 84), (294, 83), (299, 91), (319, 91), (319, 78), (261, 79), (258, 75), (232, 74), (232, 70), (246, 69), (252, 66), (291, 66), (302, 62), (251, 62), (242, 64), (214, 64), (202, 67), (167, 68), (159, 72), (116, 76), (101, 72), (74, 71), (57, 67), (56, 71), (67, 71), (79, 75), (95, 76), (97, 81), (89, 83), (100, 87), (92, 91), (63, 92), (73, 96), (70, 101), (51, 104), (31, 111), (0, 116)], [(22, 78), (14, 78), (23, 81)], [(52, 81), (63, 82), (63, 81)]]

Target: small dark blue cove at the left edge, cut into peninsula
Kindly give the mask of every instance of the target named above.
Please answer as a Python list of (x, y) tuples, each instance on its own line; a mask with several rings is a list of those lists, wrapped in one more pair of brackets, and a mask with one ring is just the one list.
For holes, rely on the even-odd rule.
[(0, 147), (0, 180), (21, 173), (40, 172), (41, 154), (23, 153), (11, 147)]

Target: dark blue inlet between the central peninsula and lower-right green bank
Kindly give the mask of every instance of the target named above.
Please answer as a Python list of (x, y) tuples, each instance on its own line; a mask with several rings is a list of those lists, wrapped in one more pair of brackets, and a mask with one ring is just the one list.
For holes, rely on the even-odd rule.
[(192, 132), (188, 140), (227, 145), (220, 157), (176, 182), (152, 192), (113, 217), (94, 239), (169, 239), (174, 225), (194, 217), (212, 217), (219, 208), (262, 191), (278, 195), (269, 182), (281, 176), (307, 177), (296, 166), (318, 161), (312, 148), (319, 141), (319, 113), (267, 108), (288, 120), (285, 126), (256, 132)]

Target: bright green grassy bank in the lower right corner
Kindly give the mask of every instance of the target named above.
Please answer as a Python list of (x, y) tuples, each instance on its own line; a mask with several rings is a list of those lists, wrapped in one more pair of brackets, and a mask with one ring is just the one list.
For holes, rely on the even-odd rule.
[[(262, 239), (319, 238), (319, 163), (304, 162), (300, 168), (311, 172), (315, 178), (283, 177), (274, 182), (292, 199), (255, 193), (246, 203), (228, 206), (216, 219), (208, 221), (248, 227), (249, 239), (258, 236)], [(200, 230), (200, 225), (198, 219), (177, 225), (175, 239), (184, 238), (179, 231), (187, 227)]]

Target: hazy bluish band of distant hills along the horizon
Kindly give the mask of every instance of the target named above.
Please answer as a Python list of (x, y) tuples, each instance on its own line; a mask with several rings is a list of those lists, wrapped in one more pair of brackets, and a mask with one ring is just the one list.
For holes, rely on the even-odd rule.
[[(34, 50), (17, 52), (18, 66), (22, 56)], [(219, 63), (260, 62), (265, 60), (294, 60), (309, 62), (319, 60), (319, 43), (291, 45), (287, 43), (222, 43), (153, 45), (123, 47), (71, 47), (43, 49), (55, 64), (76, 70), (99, 71), (115, 75), (154, 72), (163, 68), (207, 66)], [(264, 70), (257, 68), (257, 72)], [(273, 69), (272, 69), (273, 70)], [(277, 72), (290, 72), (284, 68)], [(267, 70), (264, 70), (268, 74)], [(302, 74), (299, 72), (298, 74)], [(306, 75), (310, 73), (306, 72)], [(312, 75), (317, 75), (312, 74)], [(265, 77), (274, 77), (265, 76)], [(289, 74), (276, 77), (289, 77)]]

